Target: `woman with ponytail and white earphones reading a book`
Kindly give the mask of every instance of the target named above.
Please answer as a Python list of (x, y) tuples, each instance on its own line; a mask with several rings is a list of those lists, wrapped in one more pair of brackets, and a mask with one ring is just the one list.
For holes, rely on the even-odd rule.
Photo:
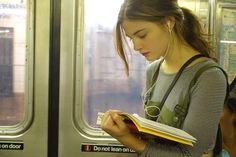
[(201, 67), (217, 66), (196, 16), (179, 7), (177, 0), (124, 0), (116, 25), (116, 47), (128, 75), (127, 38), (134, 50), (152, 62), (143, 95), (146, 118), (181, 128), (197, 143), (192, 147), (139, 137), (123, 122), (119, 110), (107, 111), (101, 128), (140, 157), (213, 156), (226, 78), (219, 68), (210, 68), (188, 89)]

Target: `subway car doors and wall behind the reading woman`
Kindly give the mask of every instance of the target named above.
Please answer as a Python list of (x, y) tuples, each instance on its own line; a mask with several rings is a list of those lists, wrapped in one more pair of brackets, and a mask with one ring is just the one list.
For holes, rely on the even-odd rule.
[[(138, 53), (127, 78), (113, 29), (123, 0), (0, 0), (0, 156), (134, 157), (97, 125), (111, 108), (143, 116), (149, 64)], [(178, 0), (215, 39), (236, 74), (236, 1)]]

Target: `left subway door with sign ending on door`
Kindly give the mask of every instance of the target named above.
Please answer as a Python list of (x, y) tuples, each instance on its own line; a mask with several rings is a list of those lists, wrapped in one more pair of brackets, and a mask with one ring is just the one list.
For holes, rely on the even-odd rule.
[(0, 8), (0, 156), (47, 157), (50, 1)]

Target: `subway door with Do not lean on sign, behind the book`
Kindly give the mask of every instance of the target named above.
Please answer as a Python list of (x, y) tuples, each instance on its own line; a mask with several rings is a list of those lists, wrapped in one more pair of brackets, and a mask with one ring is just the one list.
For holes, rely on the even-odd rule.
[(132, 53), (127, 78), (113, 43), (122, 1), (61, 1), (59, 157), (137, 156), (96, 124), (108, 109), (143, 115), (147, 63)]

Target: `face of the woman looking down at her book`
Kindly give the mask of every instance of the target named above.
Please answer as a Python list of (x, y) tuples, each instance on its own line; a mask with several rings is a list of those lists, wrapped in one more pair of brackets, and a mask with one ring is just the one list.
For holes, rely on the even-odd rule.
[(124, 20), (122, 26), (131, 39), (134, 50), (147, 60), (153, 61), (165, 55), (170, 41), (167, 27), (141, 20)]

